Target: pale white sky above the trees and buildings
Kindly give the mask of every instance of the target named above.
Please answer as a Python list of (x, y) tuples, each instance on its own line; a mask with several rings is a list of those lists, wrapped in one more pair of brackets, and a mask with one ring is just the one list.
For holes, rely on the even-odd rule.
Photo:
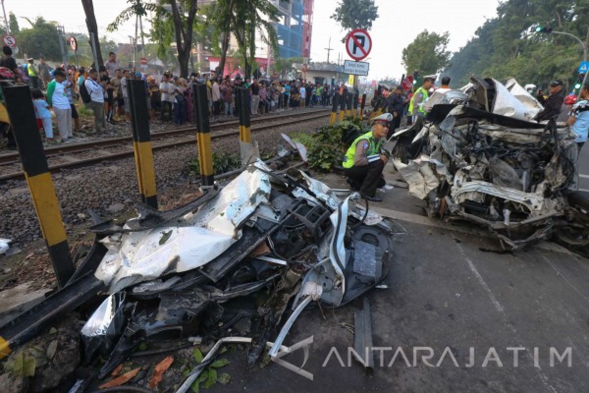
[[(311, 61), (326, 61), (331, 37), (330, 61), (338, 54), (348, 59), (340, 39), (346, 34), (336, 21), (329, 18), (337, 6), (337, 0), (315, 0), (313, 12), (313, 36)], [(448, 50), (458, 51), (473, 37), (475, 30), (486, 19), (497, 16), (498, 0), (376, 0), (379, 17), (369, 33), (372, 51), (369, 54), (369, 79), (400, 78), (405, 72), (401, 52), (416, 35), (428, 29), (438, 33), (448, 31)], [(87, 32), (84, 9), (80, 0), (4, 0), (6, 15), (34, 19), (38, 15), (47, 20), (59, 21), (67, 32)], [(125, 0), (94, 0), (98, 29), (106, 34), (107, 25), (127, 6)], [(28, 22), (18, 18), (19, 25)], [(144, 24), (144, 28), (145, 28)], [(117, 32), (106, 34), (117, 42), (128, 42), (134, 35), (134, 21), (128, 21)], [(101, 34), (102, 35), (102, 34)]]

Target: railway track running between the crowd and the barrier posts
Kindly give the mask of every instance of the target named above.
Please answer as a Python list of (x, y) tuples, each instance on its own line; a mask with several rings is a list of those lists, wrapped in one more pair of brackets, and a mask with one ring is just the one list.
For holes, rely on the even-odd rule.
[[(279, 127), (283, 124), (291, 124), (295, 121), (304, 122), (310, 120), (316, 120), (317, 118), (327, 117), (330, 114), (330, 110), (313, 110), (305, 111), (303, 113), (297, 112), (292, 114), (280, 114), (272, 117), (262, 117), (252, 119), (252, 133), (256, 131), (267, 130), (269, 128)], [(282, 123), (277, 124), (277, 120), (285, 120)], [(259, 126), (255, 126), (259, 123)], [(239, 135), (237, 130), (239, 123), (237, 121), (226, 121), (223, 123), (211, 124), (211, 138), (226, 138), (231, 136)], [(234, 131), (221, 131), (225, 128), (233, 128)], [(219, 130), (218, 133), (214, 133), (215, 130)], [(170, 148), (175, 146), (181, 146), (184, 144), (196, 144), (196, 138), (191, 133), (196, 132), (196, 127), (178, 127), (173, 130), (166, 130), (160, 132), (154, 132), (151, 134), (151, 142), (153, 150), (161, 150), (164, 148)], [(90, 157), (76, 158), (76, 155)], [(45, 149), (45, 156), (49, 161), (49, 171), (51, 173), (57, 173), (62, 169), (71, 169), (77, 167), (91, 166), (102, 161), (120, 160), (121, 158), (128, 158), (134, 156), (133, 151), (133, 138), (132, 137), (118, 137), (108, 138), (100, 140), (92, 140), (84, 143), (67, 144), (57, 147), (49, 147)], [(0, 155), (0, 169), (4, 167), (10, 167), (12, 169), (2, 170), (0, 174), (0, 181), (5, 180), (22, 180), (25, 179), (25, 174), (22, 171), (21, 164), (19, 162), (18, 153), (9, 153)], [(52, 162), (54, 161), (54, 162)], [(15, 169), (18, 167), (18, 169)]]

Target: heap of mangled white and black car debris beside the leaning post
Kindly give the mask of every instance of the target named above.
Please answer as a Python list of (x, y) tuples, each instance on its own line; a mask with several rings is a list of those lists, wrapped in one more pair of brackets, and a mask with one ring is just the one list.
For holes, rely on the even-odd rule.
[(81, 364), (105, 359), (93, 378), (111, 374), (143, 342), (217, 342), (178, 389), (187, 391), (224, 342), (248, 343), (253, 365), (265, 349), (276, 356), (285, 348), (310, 302), (345, 305), (382, 282), (393, 225), (359, 200), (353, 193), (341, 201), (306, 173), (274, 173), (258, 161), (178, 209), (140, 206), (124, 226), (95, 225), (95, 247), (82, 261), (88, 272), (36, 306), (34, 329), (24, 329), (25, 313), (0, 333), (14, 351), (75, 310), (85, 317)]

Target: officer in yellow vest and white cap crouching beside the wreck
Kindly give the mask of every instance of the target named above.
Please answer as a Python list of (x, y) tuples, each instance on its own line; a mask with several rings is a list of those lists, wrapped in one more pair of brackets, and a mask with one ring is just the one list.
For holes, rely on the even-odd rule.
[(382, 202), (382, 199), (376, 197), (376, 189), (386, 184), (382, 170), (388, 157), (380, 153), (380, 148), (385, 143), (384, 138), (392, 119), (390, 113), (373, 118), (372, 131), (356, 138), (343, 158), (342, 166), (348, 182), (372, 202)]

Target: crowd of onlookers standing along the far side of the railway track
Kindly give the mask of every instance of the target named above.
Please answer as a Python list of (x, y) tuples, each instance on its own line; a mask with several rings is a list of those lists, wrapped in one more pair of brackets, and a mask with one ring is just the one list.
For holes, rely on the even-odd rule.
[[(39, 64), (28, 59), (28, 65), (23, 69), (16, 65), (9, 49), (4, 47), (5, 57), (0, 61), (0, 67), (14, 71), (17, 84), (31, 85), (38, 127), (44, 130), (48, 144), (68, 141), (82, 132), (76, 104), (84, 105), (94, 115), (94, 127), (85, 127), (87, 135), (104, 133), (111, 128), (109, 123), (129, 123), (129, 80), (143, 81), (151, 121), (177, 125), (193, 121), (194, 84), (206, 86), (207, 104), (213, 121), (239, 114), (236, 95), (240, 88), (247, 91), (253, 116), (288, 108), (330, 105), (334, 93), (330, 85), (302, 80), (244, 80), (239, 74), (230, 78), (229, 75), (223, 77), (214, 72), (202, 75), (193, 72), (188, 78), (175, 77), (170, 72), (148, 75), (125, 70), (112, 52), (98, 70), (74, 65), (52, 69), (44, 59)], [(59, 138), (54, 137), (53, 116)]]

